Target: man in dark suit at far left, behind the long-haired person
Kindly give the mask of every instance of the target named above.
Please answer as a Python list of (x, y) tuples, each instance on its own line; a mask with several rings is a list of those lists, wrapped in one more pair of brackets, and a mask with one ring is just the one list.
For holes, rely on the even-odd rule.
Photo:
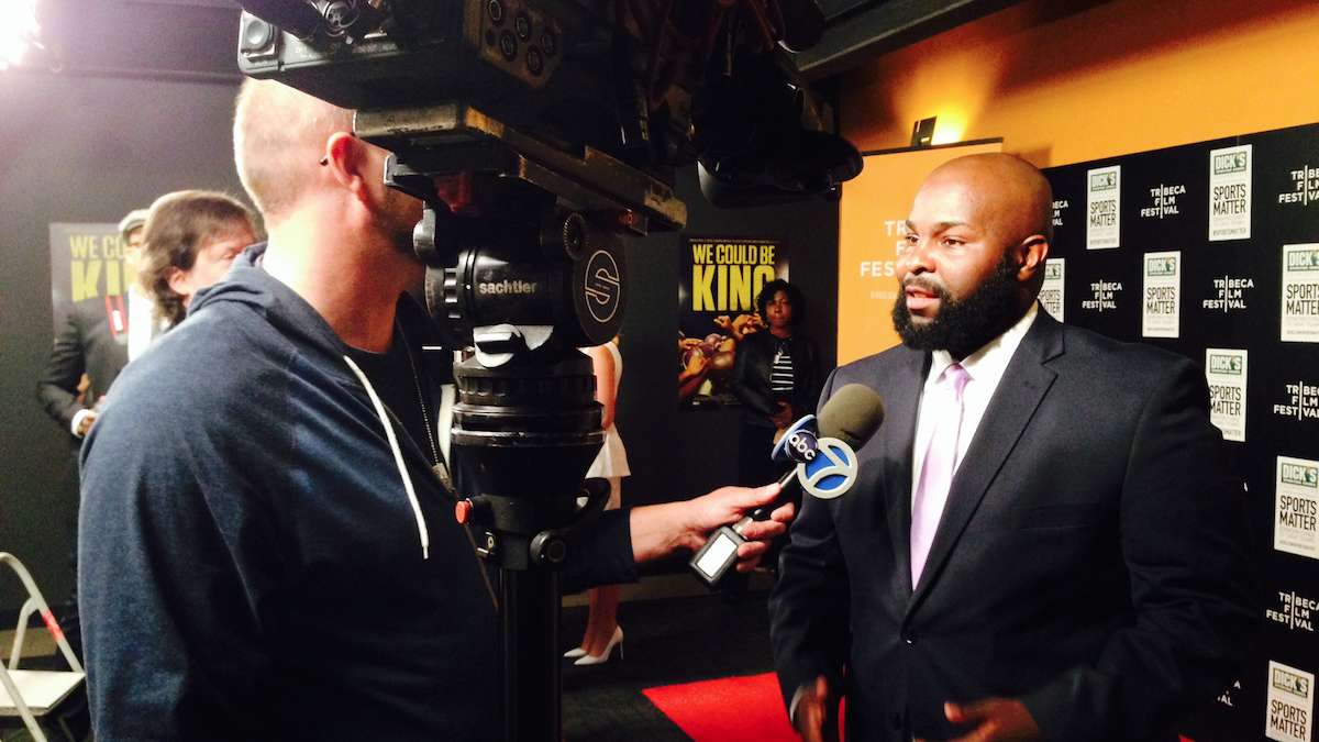
[[(135, 276), (142, 248), (146, 210), (129, 211), (119, 223), (125, 243), (125, 276)], [(96, 403), (128, 363), (128, 297), (98, 296), (69, 306), (63, 327), (55, 335), (46, 371), (37, 382), (37, 399), (55, 422), (73, 436), (73, 445), (96, 422)], [(78, 384), (87, 375), (87, 389)]]

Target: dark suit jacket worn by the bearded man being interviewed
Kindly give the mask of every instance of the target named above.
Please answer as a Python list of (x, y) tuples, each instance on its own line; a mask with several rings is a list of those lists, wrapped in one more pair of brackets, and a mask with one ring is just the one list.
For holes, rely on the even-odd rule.
[[(785, 700), (847, 675), (849, 742), (947, 739), (942, 704), (1021, 698), (1049, 739), (1175, 739), (1257, 624), (1244, 494), (1187, 359), (1041, 312), (958, 469), (921, 584), (911, 453), (930, 355), (836, 370), (888, 420), (834, 500), (806, 498), (770, 599)], [(845, 669), (844, 669), (845, 668)], [(964, 731), (964, 730), (962, 730)]]

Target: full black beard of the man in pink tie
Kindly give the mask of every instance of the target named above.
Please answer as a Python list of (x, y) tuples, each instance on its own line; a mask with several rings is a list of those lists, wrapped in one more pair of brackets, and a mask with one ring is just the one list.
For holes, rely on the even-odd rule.
[(939, 298), (939, 313), (926, 325), (915, 325), (900, 290), (893, 304), (893, 326), (902, 345), (915, 350), (946, 350), (954, 358), (971, 355), (1021, 318), (1018, 265), (1009, 253), (993, 273), (964, 298), (955, 298), (943, 287), (914, 279), (922, 289)]

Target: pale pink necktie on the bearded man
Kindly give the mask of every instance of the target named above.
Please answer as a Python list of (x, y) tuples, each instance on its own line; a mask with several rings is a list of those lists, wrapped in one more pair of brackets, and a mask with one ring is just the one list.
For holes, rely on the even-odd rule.
[[(962, 389), (971, 376), (960, 363), (943, 371), (935, 384), (939, 408), (935, 409), (934, 434), (925, 452), (921, 483), (911, 499), (911, 586), (921, 581), (921, 570), (930, 556), (934, 532), (939, 528), (943, 504), (948, 500), (952, 473), (958, 469), (958, 436), (962, 433)], [(951, 387), (951, 388), (950, 388)], [(934, 400), (926, 400), (934, 401)]]

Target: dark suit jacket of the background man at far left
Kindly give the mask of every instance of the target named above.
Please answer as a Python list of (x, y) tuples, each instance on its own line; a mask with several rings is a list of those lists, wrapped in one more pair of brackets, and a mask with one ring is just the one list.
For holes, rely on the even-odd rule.
[[(128, 304), (127, 298), (124, 304)], [(111, 331), (106, 300), (86, 298), (69, 308), (65, 325), (55, 335), (46, 371), (37, 382), (37, 399), (46, 415), (69, 432), (74, 415), (87, 407), (78, 401), (78, 382), (82, 375), (87, 374), (91, 380), (86, 399), (95, 404), (98, 397), (109, 391), (127, 363), (127, 329), (116, 338)]]

